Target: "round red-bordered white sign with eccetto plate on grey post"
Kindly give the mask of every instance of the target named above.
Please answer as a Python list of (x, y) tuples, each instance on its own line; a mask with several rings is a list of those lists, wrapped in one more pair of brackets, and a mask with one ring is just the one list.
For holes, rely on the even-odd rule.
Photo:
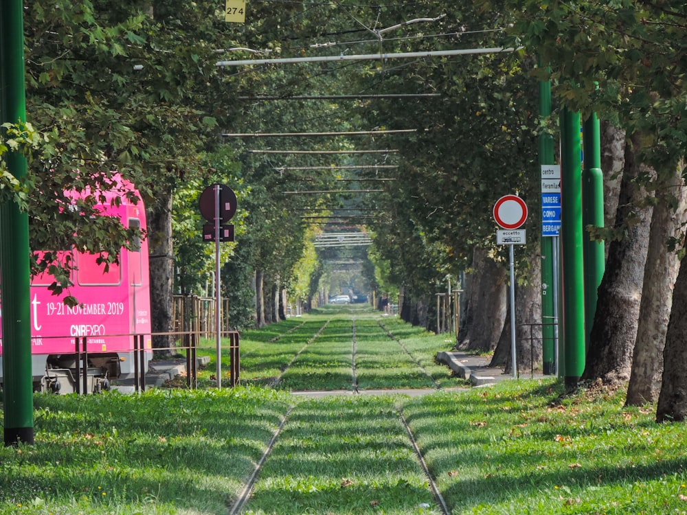
[(515, 257), (513, 245), (526, 243), (525, 229), (520, 229), (527, 220), (527, 205), (517, 195), (505, 195), (494, 205), (494, 220), (502, 230), (496, 231), (496, 242), (508, 245), (510, 262), (510, 361), (513, 378), (517, 379), (517, 354), (515, 352)]

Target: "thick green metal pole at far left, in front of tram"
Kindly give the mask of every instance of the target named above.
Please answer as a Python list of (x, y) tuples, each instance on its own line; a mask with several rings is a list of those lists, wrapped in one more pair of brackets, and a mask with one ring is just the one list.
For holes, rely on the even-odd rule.
[[(26, 120), (23, 2), (0, 0), (0, 110), (2, 122)], [(25, 178), (19, 152), (3, 156), (16, 179)], [(0, 205), (5, 446), (34, 443), (29, 294), (29, 218), (15, 203)]]

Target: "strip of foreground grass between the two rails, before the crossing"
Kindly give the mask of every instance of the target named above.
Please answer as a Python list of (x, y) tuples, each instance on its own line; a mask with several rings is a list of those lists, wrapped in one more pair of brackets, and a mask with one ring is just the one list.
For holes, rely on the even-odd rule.
[(245, 513), (440, 513), (433, 505), (394, 400), (330, 397), (289, 415)]

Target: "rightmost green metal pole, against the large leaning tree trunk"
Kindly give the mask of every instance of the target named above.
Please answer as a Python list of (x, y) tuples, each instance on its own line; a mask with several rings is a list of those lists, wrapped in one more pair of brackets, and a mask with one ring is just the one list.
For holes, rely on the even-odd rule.
[(605, 244), (603, 240), (589, 239), (587, 226), (603, 227), (603, 174), (601, 172), (601, 135), (600, 124), (596, 113), (585, 120), (583, 144), (585, 149), (585, 167), (582, 172), (582, 223), (585, 227), (585, 321), (587, 339), (585, 347), (589, 349), (589, 334), (592, 332), (599, 284), (605, 271)]

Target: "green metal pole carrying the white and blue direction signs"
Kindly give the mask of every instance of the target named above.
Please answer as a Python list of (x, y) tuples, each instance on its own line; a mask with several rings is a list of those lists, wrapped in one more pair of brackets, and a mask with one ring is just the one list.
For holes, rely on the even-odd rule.
[[(539, 82), (539, 117), (551, 115), (551, 82)], [(539, 164), (552, 165), (554, 161), (554, 137), (542, 131), (539, 134)], [(554, 320), (554, 240), (558, 238), (542, 236), (541, 238), (541, 336), (542, 336), (542, 371), (546, 375), (555, 374), (555, 332)]]

